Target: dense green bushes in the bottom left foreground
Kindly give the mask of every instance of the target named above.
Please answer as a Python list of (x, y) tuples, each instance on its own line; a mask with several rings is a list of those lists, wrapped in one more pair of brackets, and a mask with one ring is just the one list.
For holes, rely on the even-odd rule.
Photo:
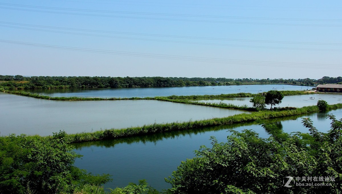
[(0, 137), (0, 191), (72, 192), (76, 185), (83, 184), (82, 177), (91, 180), (90, 175), (73, 166), (75, 158), (80, 157), (73, 148), (67, 144), (65, 132), (52, 137)]

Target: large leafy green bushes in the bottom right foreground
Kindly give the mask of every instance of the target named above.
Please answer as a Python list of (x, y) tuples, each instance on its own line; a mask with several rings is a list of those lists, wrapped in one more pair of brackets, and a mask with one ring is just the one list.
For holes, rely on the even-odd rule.
[[(342, 119), (332, 120), (331, 130), (320, 133), (308, 118), (310, 134), (292, 135), (263, 124), (271, 134), (260, 138), (251, 130), (232, 131), (226, 143), (212, 137), (212, 148), (201, 146), (196, 158), (182, 162), (172, 177), (170, 193), (341, 193)], [(284, 177), (332, 177), (331, 186), (284, 186)], [(322, 182), (320, 182), (322, 183)], [(291, 183), (293, 184), (293, 182)]]

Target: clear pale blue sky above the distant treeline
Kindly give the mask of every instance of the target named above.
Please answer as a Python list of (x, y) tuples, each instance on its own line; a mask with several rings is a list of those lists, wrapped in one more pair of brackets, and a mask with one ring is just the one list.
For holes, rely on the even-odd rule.
[(2, 0), (0, 75), (342, 76), (342, 1)]

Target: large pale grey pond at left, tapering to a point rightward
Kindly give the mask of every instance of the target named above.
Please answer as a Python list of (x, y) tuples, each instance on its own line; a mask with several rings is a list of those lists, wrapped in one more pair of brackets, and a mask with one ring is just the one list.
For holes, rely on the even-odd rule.
[(0, 93), (0, 135), (52, 135), (248, 113), (155, 100), (52, 101)]

